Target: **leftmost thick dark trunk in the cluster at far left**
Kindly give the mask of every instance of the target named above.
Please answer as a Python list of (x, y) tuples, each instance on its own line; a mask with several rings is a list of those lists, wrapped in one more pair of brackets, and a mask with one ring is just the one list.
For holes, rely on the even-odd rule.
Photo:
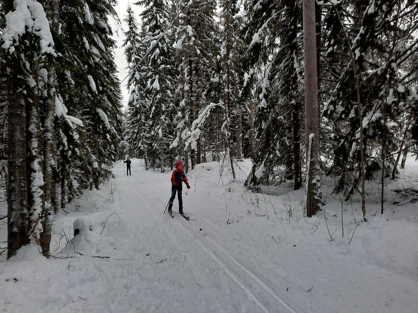
[(8, 94), (7, 258), (25, 245), (30, 232), (26, 167), (26, 108), (23, 94), (11, 77)]

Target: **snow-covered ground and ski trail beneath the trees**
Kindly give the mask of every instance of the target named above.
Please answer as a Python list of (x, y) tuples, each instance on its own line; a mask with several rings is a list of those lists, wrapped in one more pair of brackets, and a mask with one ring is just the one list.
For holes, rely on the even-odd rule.
[[(305, 218), (303, 189), (248, 192), (250, 161), (238, 164), (235, 181), (226, 169), (220, 178), (216, 162), (189, 173), (186, 221), (177, 200), (174, 219), (163, 215), (171, 171), (147, 172), (134, 159), (127, 177), (116, 163), (116, 179), (53, 217), (53, 257), (34, 245), (0, 256), (1, 312), (417, 312), (418, 203), (394, 190), (416, 188), (418, 162), (409, 158), (387, 184), (383, 216), (377, 180), (367, 187), (368, 223), (358, 224), (358, 195), (344, 202), (344, 236), (332, 180), (323, 181), (326, 208)], [(73, 238), (76, 219), (86, 230)], [(2, 219), (0, 248), (6, 241)]]

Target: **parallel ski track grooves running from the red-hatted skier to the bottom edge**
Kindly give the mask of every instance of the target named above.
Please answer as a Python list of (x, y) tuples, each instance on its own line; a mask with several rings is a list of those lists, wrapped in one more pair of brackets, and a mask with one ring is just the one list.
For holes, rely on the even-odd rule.
[[(152, 187), (154, 190), (156, 190), (158, 193), (160, 193), (161, 195), (163, 194), (163, 192), (161, 190), (159, 190), (158, 188), (154, 187), (153, 185), (149, 184), (150, 187)], [(160, 200), (159, 201), (159, 205), (164, 208), (164, 206), (161, 204), (161, 201), (163, 201), (163, 199), (159, 196), (157, 196), (157, 198)], [(151, 197), (151, 199), (153, 199)], [(221, 251), (227, 258), (229, 258), (233, 263), (235, 263), (239, 268), (241, 268), (249, 277), (251, 277), (255, 282), (257, 282), (265, 291), (269, 292), (271, 294), (271, 296), (273, 298), (275, 298), (284, 308), (286, 308), (289, 312), (292, 313), (297, 313), (297, 311), (295, 311), (295, 309), (293, 308), (293, 306), (288, 303), (288, 301), (284, 300), (281, 296), (277, 295), (273, 289), (260, 277), (257, 277), (256, 274), (254, 274), (250, 269), (246, 268), (245, 266), (243, 266), (241, 263), (239, 263), (237, 260), (235, 260), (231, 255), (229, 255), (227, 252), (225, 252), (213, 239), (209, 239), (206, 238), (207, 241), (209, 241), (211, 244), (209, 245), (204, 245), (188, 228), (187, 226), (185, 226), (183, 223), (180, 223), (180, 221), (178, 221), (177, 219), (176, 222), (178, 224), (180, 224), (186, 231), (187, 233), (192, 236), (196, 241), (197, 244), (207, 253), (209, 254), (212, 259), (217, 262), (221, 268), (223, 268), (225, 270), (225, 272), (247, 293), (247, 295), (253, 299), (255, 301), (255, 303), (263, 309), (264, 312), (270, 312), (258, 299), (257, 297), (251, 292), (249, 291), (246, 286), (226, 267), (225, 264), (223, 264), (223, 262), (220, 260), (220, 258), (217, 256), (217, 254), (214, 252), (212, 246), (215, 246), (219, 251)]]

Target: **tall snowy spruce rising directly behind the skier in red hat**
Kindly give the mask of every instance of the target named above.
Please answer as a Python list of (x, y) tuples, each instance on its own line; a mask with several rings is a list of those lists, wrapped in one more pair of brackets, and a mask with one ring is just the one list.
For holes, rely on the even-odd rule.
[[(217, 27), (215, 22), (216, 1), (179, 1), (179, 21), (175, 34), (176, 57), (179, 85), (176, 99), (179, 99), (179, 113), (176, 116), (177, 136), (172, 147), (181, 147), (190, 134), (190, 126), (197, 119), (198, 112), (211, 101), (206, 92), (207, 83), (213, 73), (219, 55)], [(181, 98), (182, 97), (182, 98)], [(190, 141), (189, 141), (190, 142)], [(188, 147), (185, 147), (188, 149)], [(187, 151), (187, 150), (186, 150)], [(197, 139), (196, 147), (190, 151), (192, 168), (201, 162), (202, 145)], [(186, 162), (188, 160), (186, 159)], [(187, 169), (186, 164), (186, 169)]]

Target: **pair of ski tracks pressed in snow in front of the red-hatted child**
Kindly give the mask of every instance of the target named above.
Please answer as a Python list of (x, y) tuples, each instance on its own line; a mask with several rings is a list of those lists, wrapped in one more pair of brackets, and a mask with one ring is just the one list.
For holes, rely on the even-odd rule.
[[(156, 187), (152, 185), (148, 185), (152, 187), (158, 194), (163, 195), (163, 192)], [(138, 194), (135, 190), (135, 193)], [(138, 194), (139, 195), (139, 194)], [(140, 195), (139, 195), (140, 196)], [(140, 196), (141, 197), (141, 196)], [(142, 197), (141, 197), (142, 198)], [(159, 196), (156, 196), (158, 198), (159, 205), (164, 209), (164, 205), (161, 203), (164, 203), (164, 199), (162, 199)], [(153, 199), (151, 197), (151, 199)], [(161, 202), (162, 201), (162, 202)], [(148, 205), (147, 205), (148, 206)], [(291, 313), (298, 313), (300, 312), (298, 309), (296, 309), (292, 304), (289, 303), (288, 300), (284, 299), (280, 295), (278, 295), (267, 282), (265, 282), (262, 278), (258, 277), (256, 274), (254, 274), (253, 271), (251, 271), (249, 268), (246, 268), (244, 265), (242, 265), (240, 262), (238, 262), (234, 257), (232, 257), (229, 253), (227, 253), (224, 249), (221, 248), (213, 239), (208, 238), (208, 236), (203, 237), (206, 241), (206, 243), (203, 243), (201, 239), (197, 238), (196, 235), (194, 235), (184, 223), (181, 223), (178, 219), (176, 220), (178, 224), (180, 224), (186, 232), (192, 236), (197, 244), (202, 248), (203, 251), (205, 251), (216, 263), (219, 264), (221, 268), (232, 278), (234, 282), (237, 283), (248, 295), (248, 297), (257, 304), (257, 306), (264, 312), (270, 313), (270, 310), (266, 308), (266, 306), (259, 300), (259, 298), (250, 290), (249, 287), (246, 286), (242, 280), (240, 280), (239, 277), (237, 277), (236, 274), (232, 272), (231, 266), (228, 267), (227, 263), (224, 260), (221, 260), (220, 253), (216, 253), (215, 250), (218, 250), (221, 252), (221, 254), (224, 256), (224, 259), (229, 259), (232, 264), (235, 264), (237, 268), (240, 268), (242, 272), (244, 272), (248, 277), (250, 277), (254, 282), (256, 282), (259, 286), (262, 287), (264, 291), (267, 291), (285, 310), (278, 311), (277, 307), (275, 307), (274, 312), (291, 312)]]

